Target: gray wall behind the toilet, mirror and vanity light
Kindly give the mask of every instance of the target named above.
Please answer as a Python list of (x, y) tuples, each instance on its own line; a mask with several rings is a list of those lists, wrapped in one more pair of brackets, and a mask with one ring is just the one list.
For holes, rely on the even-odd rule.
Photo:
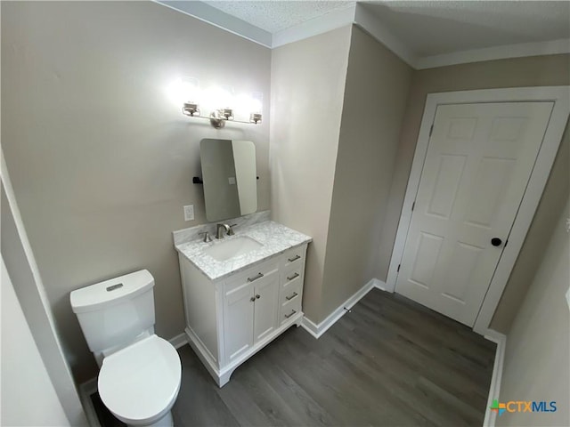
[[(179, 76), (262, 92), (271, 51), (151, 2), (2, 2), (2, 143), (24, 225), (78, 382), (96, 374), (69, 292), (146, 268), (156, 330), (183, 332), (171, 232), (206, 222), (199, 140), (256, 144), (259, 210), (269, 207), (269, 125), (182, 116)], [(196, 221), (183, 221), (183, 205)]]

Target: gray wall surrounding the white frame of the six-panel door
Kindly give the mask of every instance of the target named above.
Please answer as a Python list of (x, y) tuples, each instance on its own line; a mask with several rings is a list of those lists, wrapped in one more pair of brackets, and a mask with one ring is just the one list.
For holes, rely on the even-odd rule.
[[(411, 170), (419, 125), (428, 93), (460, 90), (491, 89), (518, 86), (548, 86), (570, 84), (570, 55), (550, 55), (509, 60), (492, 60), (450, 67), (415, 71), (403, 121), (400, 147), (395, 160), (395, 173), (387, 204), (386, 221), (381, 232), (379, 279), (387, 277), (400, 214), (402, 212), (408, 176)], [(568, 193), (568, 132), (558, 151), (556, 164), (527, 234), (525, 245), (510, 276), (501, 302), (495, 312), (492, 327), (509, 332), (510, 323), (520, 301), (530, 286), (537, 267), (536, 254), (542, 254), (548, 244), (551, 214), (564, 202)], [(562, 195), (562, 199), (560, 198)], [(532, 260), (529, 262), (529, 260)]]

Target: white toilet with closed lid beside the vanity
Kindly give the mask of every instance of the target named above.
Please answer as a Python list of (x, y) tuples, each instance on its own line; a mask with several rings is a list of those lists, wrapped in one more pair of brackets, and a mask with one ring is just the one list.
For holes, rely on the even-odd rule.
[(170, 342), (154, 334), (154, 278), (148, 270), (70, 294), (100, 367), (103, 404), (127, 425), (172, 426), (182, 367)]

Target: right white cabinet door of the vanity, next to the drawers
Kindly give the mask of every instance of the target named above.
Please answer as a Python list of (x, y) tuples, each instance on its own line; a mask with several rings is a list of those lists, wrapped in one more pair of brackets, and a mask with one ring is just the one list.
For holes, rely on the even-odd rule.
[(258, 342), (277, 327), (279, 318), (279, 274), (277, 272), (256, 281), (255, 297), (253, 329), (254, 342)]

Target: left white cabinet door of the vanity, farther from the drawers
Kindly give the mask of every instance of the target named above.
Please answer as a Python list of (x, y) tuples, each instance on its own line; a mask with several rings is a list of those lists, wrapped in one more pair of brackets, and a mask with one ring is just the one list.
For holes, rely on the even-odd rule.
[(233, 287), (224, 296), (224, 344), (229, 363), (253, 345), (254, 286)]

